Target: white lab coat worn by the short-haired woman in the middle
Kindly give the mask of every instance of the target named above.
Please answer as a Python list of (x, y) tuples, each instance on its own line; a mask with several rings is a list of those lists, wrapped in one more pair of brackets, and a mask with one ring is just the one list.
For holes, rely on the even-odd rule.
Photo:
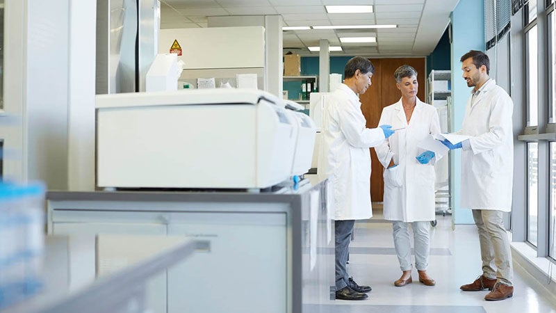
[[(415, 159), (425, 152), (417, 147), (430, 134), (440, 134), (439, 115), (434, 106), (417, 99), (409, 125), (402, 99), (386, 106), (379, 125), (392, 125), (395, 131), (382, 145), (375, 147), (384, 166), (384, 219), (415, 222), (434, 220), (434, 162), (421, 164)], [(386, 169), (390, 160), (398, 166)]]

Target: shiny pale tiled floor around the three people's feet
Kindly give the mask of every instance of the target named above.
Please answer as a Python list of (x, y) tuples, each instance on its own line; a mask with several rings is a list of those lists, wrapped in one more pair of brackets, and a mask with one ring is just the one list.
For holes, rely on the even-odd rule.
[(488, 291), (460, 291), (461, 284), (480, 275), (480, 251), (475, 226), (456, 225), (452, 231), (451, 216), (437, 216), (438, 224), (431, 232), (428, 273), (436, 286), (420, 284), (414, 271), (412, 284), (395, 287), (393, 282), (401, 270), (393, 250), (391, 223), (381, 218), (378, 210), (372, 223), (356, 223), (350, 245), (348, 271), (359, 284), (373, 287), (369, 298), (316, 303), (320, 312), (556, 313), (556, 298), (515, 263), (513, 298), (490, 302), (484, 300)]

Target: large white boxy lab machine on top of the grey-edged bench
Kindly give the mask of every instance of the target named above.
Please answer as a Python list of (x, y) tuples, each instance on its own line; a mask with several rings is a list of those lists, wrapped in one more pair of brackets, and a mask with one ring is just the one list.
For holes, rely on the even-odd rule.
[(262, 90), (97, 95), (97, 186), (267, 188), (291, 175), (297, 125)]

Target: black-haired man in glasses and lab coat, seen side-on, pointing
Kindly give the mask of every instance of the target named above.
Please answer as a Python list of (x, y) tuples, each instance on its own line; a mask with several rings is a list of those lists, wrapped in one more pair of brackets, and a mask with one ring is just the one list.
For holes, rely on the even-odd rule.
[(347, 275), (346, 263), (355, 220), (370, 218), (370, 152), (393, 134), (391, 126), (366, 128), (359, 95), (370, 86), (375, 67), (361, 56), (345, 65), (344, 82), (330, 95), (322, 112), (319, 175), (333, 185), (336, 241), (336, 299), (363, 300), (370, 291)]

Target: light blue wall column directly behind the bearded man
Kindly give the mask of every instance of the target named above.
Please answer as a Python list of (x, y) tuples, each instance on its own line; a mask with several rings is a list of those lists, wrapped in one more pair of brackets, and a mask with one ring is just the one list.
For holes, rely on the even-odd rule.
[[(452, 113), (450, 115), (451, 131), (461, 129), (464, 120), (465, 106), (471, 95), (471, 88), (467, 87), (461, 78), (461, 62), (459, 58), (469, 50), (484, 51), (484, 0), (459, 1), (450, 15), (452, 22)], [(454, 203), (452, 213), (456, 224), (473, 224), (471, 210), (462, 208), (461, 200), (461, 152), (456, 150), (452, 154), (452, 194)]]

